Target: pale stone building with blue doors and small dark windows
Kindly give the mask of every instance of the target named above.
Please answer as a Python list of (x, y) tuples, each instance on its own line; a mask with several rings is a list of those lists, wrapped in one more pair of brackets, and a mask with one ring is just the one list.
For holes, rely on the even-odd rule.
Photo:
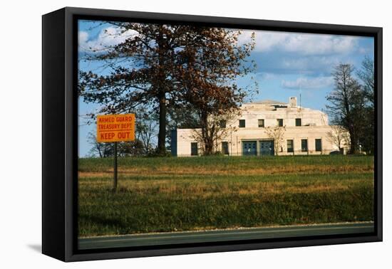
[[(277, 126), (284, 130), (282, 139), (271, 135)], [(328, 124), (327, 115), (299, 107), (296, 97), (290, 97), (288, 103), (264, 100), (244, 104), (239, 117), (226, 122), (226, 128), (225, 137), (216, 146), (223, 154), (233, 156), (330, 154), (339, 150), (332, 142), (333, 127)], [(194, 129), (173, 130), (172, 155), (202, 154), (195, 132)]]

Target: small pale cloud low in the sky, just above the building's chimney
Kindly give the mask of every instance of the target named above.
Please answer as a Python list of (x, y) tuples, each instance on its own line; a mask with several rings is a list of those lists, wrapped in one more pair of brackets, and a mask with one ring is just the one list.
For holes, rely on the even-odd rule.
[(296, 80), (282, 80), (282, 87), (288, 89), (319, 89), (330, 87), (331, 85), (334, 85), (334, 78), (331, 76), (316, 78), (301, 77)]

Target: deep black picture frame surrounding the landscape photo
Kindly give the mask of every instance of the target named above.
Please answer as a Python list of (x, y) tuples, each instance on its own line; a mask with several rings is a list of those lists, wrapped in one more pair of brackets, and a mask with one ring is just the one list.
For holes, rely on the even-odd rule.
[[(246, 241), (187, 243), (78, 250), (77, 227), (77, 24), (78, 19), (192, 23), (269, 31), (330, 33), (374, 38), (376, 77), (375, 232)], [(234, 19), (211, 16), (66, 7), (42, 17), (42, 252), (63, 261), (212, 253), (382, 241), (382, 28), (321, 23)]]

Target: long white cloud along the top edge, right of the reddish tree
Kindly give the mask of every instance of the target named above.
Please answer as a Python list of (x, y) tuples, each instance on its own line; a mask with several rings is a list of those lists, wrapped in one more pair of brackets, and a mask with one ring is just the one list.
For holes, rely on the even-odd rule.
[[(243, 31), (239, 43), (249, 41), (252, 31)], [(314, 33), (255, 31), (255, 51), (287, 51), (301, 55), (349, 53), (358, 48), (355, 36), (334, 36)]]

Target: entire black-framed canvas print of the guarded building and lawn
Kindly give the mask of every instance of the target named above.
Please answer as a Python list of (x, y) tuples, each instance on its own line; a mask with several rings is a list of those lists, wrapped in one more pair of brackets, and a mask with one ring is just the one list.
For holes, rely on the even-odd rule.
[(382, 28), (43, 16), (43, 253), (382, 240)]

